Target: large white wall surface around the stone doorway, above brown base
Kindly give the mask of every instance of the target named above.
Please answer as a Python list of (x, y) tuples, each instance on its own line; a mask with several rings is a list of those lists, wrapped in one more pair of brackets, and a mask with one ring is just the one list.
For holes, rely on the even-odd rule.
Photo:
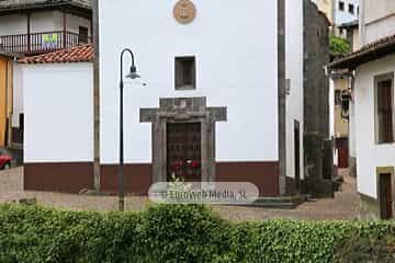
[[(198, 14), (189, 25), (173, 19), (176, 2), (99, 1), (101, 161), (117, 160), (124, 47), (135, 52), (149, 83), (125, 88), (127, 162), (151, 162), (151, 125), (139, 123), (139, 108), (157, 107), (168, 96), (207, 96), (208, 106), (227, 106), (228, 122), (216, 129), (218, 161), (278, 160), (276, 1), (194, 0)], [(196, 91), (174, 91), (173, 60), (183, 55), (196, 56)]]

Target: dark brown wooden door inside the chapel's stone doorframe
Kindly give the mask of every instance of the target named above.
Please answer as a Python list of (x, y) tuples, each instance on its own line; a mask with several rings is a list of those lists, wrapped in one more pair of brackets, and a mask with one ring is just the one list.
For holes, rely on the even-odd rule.
[(167, 180), (202, 181), (201, 123), (167, 124)]

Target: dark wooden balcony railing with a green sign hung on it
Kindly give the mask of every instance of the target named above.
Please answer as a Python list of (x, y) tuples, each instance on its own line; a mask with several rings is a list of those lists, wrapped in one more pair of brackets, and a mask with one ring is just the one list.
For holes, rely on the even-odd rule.
[(0, 52), (9, 54), (43, 54), (91, 43), (91, 37), (72, 32), (53, 31), (0, 36)]

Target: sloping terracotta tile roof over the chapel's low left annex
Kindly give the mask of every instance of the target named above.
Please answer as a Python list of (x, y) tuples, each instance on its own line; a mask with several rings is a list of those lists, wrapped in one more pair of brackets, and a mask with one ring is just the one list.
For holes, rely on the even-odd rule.
[(20, 64), (65, 64), (92, 61), (94, 49), (92, 44), (77, 46), (69, 49), (61, 49), (34, 57), (24, 57)]

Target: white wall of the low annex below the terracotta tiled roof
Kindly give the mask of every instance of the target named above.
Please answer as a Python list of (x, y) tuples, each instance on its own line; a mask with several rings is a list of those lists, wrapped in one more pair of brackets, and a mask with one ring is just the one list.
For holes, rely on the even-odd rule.
[(24, 162), (93, 161), (92, 65), (22, 67)]

